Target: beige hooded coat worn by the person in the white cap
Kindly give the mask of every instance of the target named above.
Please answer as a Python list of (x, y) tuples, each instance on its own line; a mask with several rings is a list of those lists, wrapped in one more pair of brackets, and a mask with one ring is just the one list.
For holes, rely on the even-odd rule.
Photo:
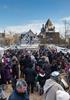
[(56, 83), (53, 79), (48, 79), (44, 85), (44, 98), (43, 100), (56, 100), (56, 91), (64, 90), (62, 86)]

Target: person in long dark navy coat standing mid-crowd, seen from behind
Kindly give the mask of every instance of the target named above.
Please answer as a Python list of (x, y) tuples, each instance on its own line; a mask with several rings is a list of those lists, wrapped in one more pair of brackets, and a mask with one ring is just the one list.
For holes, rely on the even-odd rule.
[(30, 87), (31, 87), (31, 93), (34, 92), (34, 85), (35, 85), (35, 77), (36, 77), (36, 71), (32, 68), (32, 64), (30, 67), (27, 67), (25, 69), (25, 80), (28, 85), (28, 93), (30, 92)]

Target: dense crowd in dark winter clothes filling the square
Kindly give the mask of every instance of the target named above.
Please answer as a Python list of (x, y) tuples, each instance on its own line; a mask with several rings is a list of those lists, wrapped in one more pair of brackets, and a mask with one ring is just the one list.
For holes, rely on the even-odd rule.
[[(62, 52), (57, 52), (57, 50), (51, 48), (42, 48), (39, 51), (35, 50), (6, 50), (3, 57), (0, 61), (0, 85), (3, 84), (11, 84), (13, 90), (20, 91), (19, 87), (27, 90), (25, 96), (22, 95), (22, 91), (20, 91), (21, 96), (25, 97), (24, 100), (29, 100), (30, 93), (34, 93), (34, 91), (38, 92), (39, 95), (46, 93), (49, 91), (45, 91), (46, 82), (50, 79), (52, 72), (66, 73), (68, 84), (70, 85), (70, 54), (64, 54)], [(52, 75), (53, 76), (53, 75)], [(55, 75), (56, 76), (56, 75)], [(19, 79), (23, 78), (25, 81), (21, 81)], [(19, 82), (18, 82), (19, 80)], [(46, 81), (47, 80), (47, 81)], [(19, 84), (18, 84), (18, 83)], [(22, 85), (22, 83), (24, 85)], [(49, 81), (49, 84), (55, 83)], [(60, 84), (60, 79), (58, 80)], [(20, 86), (21, 85), (21, 86)], [(61, 84), (64, 88), (64, 85)], [(24, 88), (25, 86), (25, 88)], [(53, 85), (50, 85), (51, 87)], [(58, 87), (58, 85), (57, 85)], [(60, 86), (59, 86), (60, 87)], [(27, 89), (26, 89), (27, 88)], [(53, 87), (54, 88), (54, 87)], [(62, 89), (63, 89), (62, 88)], [(53, 91), (53, 90), (52, 90)], [(16, 92), (16, 91), (15, 91)], [(16, 93), (14, 92), (14, 95)], [(50, 92), (50, 91), (49, 91)], [(9, 97), (9, 100), (23, 100), (21, 99), (12, 99), (14, 98), (12, 94)], [(17, 95), (16, 95), (17, 96)], [(26, 98), (27, 96), (27, 98)], [(18, 96), (17, 98), (20, 98)], [(49, 99), (46, 97), (44, 100), (56, 100)]]

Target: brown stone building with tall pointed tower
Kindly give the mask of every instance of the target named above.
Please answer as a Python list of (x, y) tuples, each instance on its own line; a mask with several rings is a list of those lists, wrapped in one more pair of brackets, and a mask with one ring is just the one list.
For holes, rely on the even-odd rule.
[(55, 26), (50, 19), (47, 20), (45, 25), (42, 25), (39, 38), (41, 43), (44, 44), (59, 44), (60, 34), (55, 31)]

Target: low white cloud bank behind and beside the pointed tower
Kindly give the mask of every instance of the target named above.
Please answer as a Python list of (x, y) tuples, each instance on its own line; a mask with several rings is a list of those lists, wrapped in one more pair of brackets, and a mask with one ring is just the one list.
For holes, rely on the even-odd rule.
[[(70, 17), (68, 17), (69, 19)], [(21, 32), (27, 32), (29, 29), (31, 29), (34, 33), (40, 33), (42, 24), (46, 23), (46, 21), (40, 21), (40, 20), (35, 20), (31, 21), (29, 24), (24, 24), (24, 25), (18, 25), (18, 26), (7, 26), (4, 29), (6, 32), (14, 32), (14, 33), (21, 33)], [(57, 32), (60, 32), (62, 36), (65, 35), (65, 26), (64, 23), (61, 21), (59, 23), (53, 23), (55, 26), (55, 30)], [(3, 29), (0, 29), (3, 30)]]

